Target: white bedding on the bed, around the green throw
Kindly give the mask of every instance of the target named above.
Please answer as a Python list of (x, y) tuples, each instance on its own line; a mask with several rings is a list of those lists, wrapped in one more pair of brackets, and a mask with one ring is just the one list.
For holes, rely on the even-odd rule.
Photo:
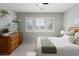
[(38, 37), (37, 55), (39, 56), (79, 56), (79, 45), (73, 44), (66, 37), (48, 37), (48, 39), (56, 46), (57, 54), (42, 54), (40, 40), (44, 37)]

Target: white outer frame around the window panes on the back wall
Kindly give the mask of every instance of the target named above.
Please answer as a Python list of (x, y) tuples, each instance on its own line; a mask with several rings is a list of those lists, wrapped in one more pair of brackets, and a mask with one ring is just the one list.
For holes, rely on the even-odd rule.
[(53, 29), (50, 29), (50, 30), (41, 30), (41, 29), (39, 29), (39, 30), (35, 30), (35, 29), (32, 29), (32, 30), (27, 30), (26, 29), (26, 24), (25, 24), (25, 31), (26, 32), (54, 32), (54, 30), (55, 30), (55, 17), (26, 17), (25, 18), (25, 23), (26, 23), (26, 20), (30, 20), (30, 19), (32, 19), (32, 20), (36, 20), (36, 19), (52, 19), (52, 21), (53, 21)]

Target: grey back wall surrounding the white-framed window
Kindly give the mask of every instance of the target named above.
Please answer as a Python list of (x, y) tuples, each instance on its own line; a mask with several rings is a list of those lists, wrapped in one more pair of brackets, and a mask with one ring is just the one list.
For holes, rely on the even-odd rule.
[[(20, 30), (23, 33), (24, 42), (36, 42), (39, 36), (57, 36), (62, 29), (63, 14), (60, 13), (18, 13), (18, 17), (22, 18)], [(24, 18), (26, 17), (55, 17), (54, 32), (26, 32)]]

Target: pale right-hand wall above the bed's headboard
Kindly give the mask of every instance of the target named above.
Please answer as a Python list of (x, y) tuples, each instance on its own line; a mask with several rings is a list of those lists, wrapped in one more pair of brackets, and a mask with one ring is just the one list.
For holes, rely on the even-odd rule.
[(64, 13), (64, 29), (73, 26), (76, 19), (79, 19), (79, 4)]

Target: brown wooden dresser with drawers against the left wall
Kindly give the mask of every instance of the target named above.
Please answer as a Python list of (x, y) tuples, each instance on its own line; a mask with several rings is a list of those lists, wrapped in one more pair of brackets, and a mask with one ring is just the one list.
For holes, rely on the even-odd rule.
[(0, 55), (10, 55), (21, 43), (21, 33), (0, 37)]

